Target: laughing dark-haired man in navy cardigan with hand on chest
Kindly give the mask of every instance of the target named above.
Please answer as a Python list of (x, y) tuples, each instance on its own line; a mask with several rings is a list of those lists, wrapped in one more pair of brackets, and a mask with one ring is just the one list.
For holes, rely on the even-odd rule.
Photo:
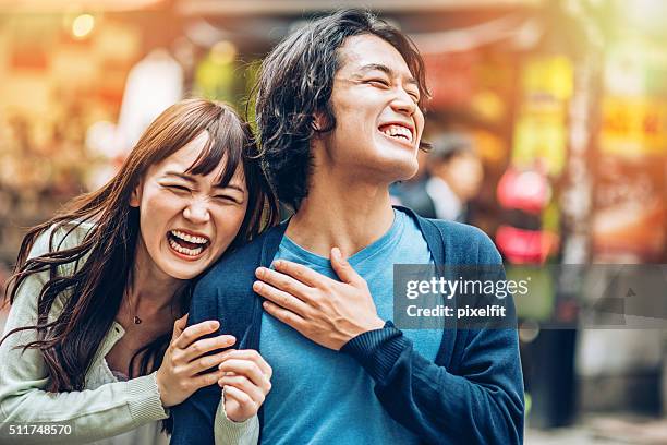
[[(263, 63), (263, 163), (296, 212), (214, 266), (189, 318), (219, 320), (272, 366), (262, 443), (523, 440), (514, 329), (390, 321), (393, 264), (500, 264), (480, 230), (390, 204), (389, 185), (417, 169), (426, 95), (414, 46), (365, 11), (310, 23)], [(213, 443), (220, 397), (211, 386), (174, 409), (172, 443)]]

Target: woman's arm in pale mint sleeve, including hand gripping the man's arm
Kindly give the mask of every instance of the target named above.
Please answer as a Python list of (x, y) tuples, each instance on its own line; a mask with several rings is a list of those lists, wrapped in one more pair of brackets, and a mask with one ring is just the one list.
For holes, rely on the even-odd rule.
[[(49, 237), (47, 232), (38, 238), (31, 257), (49, 251)], [(76, 236), (72, 238), (65, 239), (68, 244), (77, 242)], [(69, 272), (61, 270), (63, 274)], [(36, 323), (37, 296), (48, 279), (48, 272), (44, 272), (33, 274), (22, 282), (10, 311), (5, 333)], [(66, 298), (69, 296), (63, 293), (56, 299), (49, 321), (61, 313)], [(206, 356), (206, 352), (233, 344), (231, 336), (199, 340), (211, 328), (217, 329), (217, 325), (199, 324), (183, 329), (186, 317), (183, 317), (174, 323), (168, 353), (156, 373), (128, 382), (104, 383), (109, 377), (96, 376), (97, 372), (105, 372), (99, 362), (102, 358), (97, 358), (86, 375), (86, 378), (92, 378), (92, 389), (68, 393), (48, 393), (49, 374), (41, 353), (36, 349), (23, 351), (23, 345), (37, 339), (36, 330), (10, 335), (0, 345), (0, 438), (12, 430), (23, 431), (23, 426), (27, 426), (31, 431), (32, 425), (48, 423), (66, 425), (71, 433), (23, 438), (29, 438), (31, 443), (87, 443), (165, 419), (167, 412), (163, 407), (179, 404), (197, 387), (215, 384), (220, 378), (221, 371), (199, 375), (199, 372), (220, 363), (217, 360), (219, 356)]]

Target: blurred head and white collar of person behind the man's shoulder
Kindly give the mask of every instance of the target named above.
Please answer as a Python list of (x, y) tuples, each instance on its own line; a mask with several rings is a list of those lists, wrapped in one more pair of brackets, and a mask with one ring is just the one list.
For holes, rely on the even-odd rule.
[(480, 193), (484, 180), (484, 167), (472, 140), (460, 133), (436, 137), (427, 170), (425, 189), (435, 217), (468, 222), (468, 203)]

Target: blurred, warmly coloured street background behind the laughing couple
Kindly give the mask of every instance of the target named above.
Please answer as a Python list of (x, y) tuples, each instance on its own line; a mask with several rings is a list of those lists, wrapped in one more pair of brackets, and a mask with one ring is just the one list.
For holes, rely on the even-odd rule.
[(0, 282), (25, 229), (109, 179), (167, 106), (243, 111), (267, 51), (349, 5), (426, 60), (435, 147), (396, 202), (544, 272), (517, 301), (526, 443), (667, 443), (666, 330), (582, 328), (601, 292), (555, 267), (667, 260), (662, 0), (0, 0)]

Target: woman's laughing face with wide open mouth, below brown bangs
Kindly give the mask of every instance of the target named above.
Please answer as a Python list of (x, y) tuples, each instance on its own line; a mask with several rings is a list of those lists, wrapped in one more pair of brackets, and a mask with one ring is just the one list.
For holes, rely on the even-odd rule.
[(237, 237), (247, 208), (241, 169), (227, 187), (216, 183), (225, 160), (206, 176), (185, 172), (207, 139), (204, 132), (148, 168), (130, 200), (140, 208), (137, 261), (149, 257), (159, 270), (178, 279), (196, 277), (220, 257)]

